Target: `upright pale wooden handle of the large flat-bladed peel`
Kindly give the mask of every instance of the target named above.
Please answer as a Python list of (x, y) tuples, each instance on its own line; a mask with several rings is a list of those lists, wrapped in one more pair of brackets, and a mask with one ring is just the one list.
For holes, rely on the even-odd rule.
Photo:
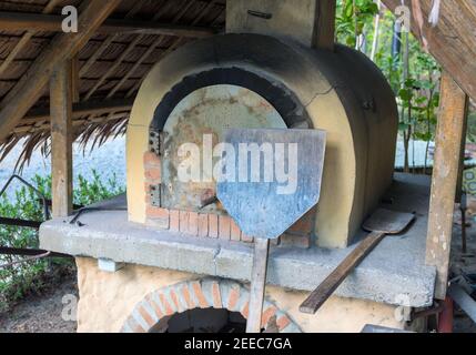
[(251, 274), (250, 311), (246, 321), (246, 333), (261, 332), (264, 286), (266, 283), (267, 252), (270, 240), (254, 239), (253, 268)]

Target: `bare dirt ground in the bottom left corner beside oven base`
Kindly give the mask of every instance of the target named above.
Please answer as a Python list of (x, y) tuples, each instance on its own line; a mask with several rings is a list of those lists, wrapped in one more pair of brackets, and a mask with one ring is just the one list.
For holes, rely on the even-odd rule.
[(68, 276), (59, 286), (28, 296), (9, 313), (0, 314), (0, 333), (75, 333), (77, 323), (61, 316), (64, 295), (78, 296), (75, 277)]

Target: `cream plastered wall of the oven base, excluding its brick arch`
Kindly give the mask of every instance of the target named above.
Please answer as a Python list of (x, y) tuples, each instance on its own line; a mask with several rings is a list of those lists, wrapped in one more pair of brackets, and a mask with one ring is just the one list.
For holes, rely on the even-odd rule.
[[(146, 295), (155, 290), (176, 283), (200, 278), (195, 274), (126, 265), (117, 273), (100, 271), (93, 258), (78, 257), (78, 305), (79, 332), (120, 332), (128, 317)], [(222, 292), (224, 298), (224, 293)], [(376, 302), (331, 297), (315, 314), (298, 312), (298, 305), (306, 292), (295, 292), (267, 286), (266, 298), (285, 314), (297, 327), (284, 332), (361, 332), (366, 324), (404, 328), (395, 318), (395, 306)], [(172, 304), (172, 302), (171, 302)], [(170, 315), (166, 317), (170, 318)], [(163, 325), (160, 325), (163, 332)]]

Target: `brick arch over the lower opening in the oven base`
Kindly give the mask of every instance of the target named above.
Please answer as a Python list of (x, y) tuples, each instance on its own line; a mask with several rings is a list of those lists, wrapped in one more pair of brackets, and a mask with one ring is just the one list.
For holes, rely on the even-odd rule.
[[(194, 308), (225, 308), (240, 312), (244, 318), (247, 318), (249, 298), (249, 290), (230, 280), (206, 277), (180, 282), (145, 295), (134, 306), (121, 332), (148, 333), (161, 320)], [(285, 312), (265, 298), (262, 327), (266, 328), (272, 316), (276, 316), (280, 333), (301, 333), (300, 327)]]

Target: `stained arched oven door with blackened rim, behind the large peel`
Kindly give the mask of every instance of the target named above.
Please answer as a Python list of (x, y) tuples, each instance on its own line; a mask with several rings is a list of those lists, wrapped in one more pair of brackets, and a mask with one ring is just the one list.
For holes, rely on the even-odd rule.
[[(282, 83), (240, 68), (216, 68), (184, 77), (163, 98), (150, 125), (150, 151), (161, 161), (161, 183), (153, 200), (170, 210), (225, 213), (216, 181), (200, 163), (201, 181), (182, 181), (180, 148), (194, 144), (204, 161), (205, 136), (213, 148), (226, 128), (310, 128), (305, 108)], [(213, 166), (217, 160), (212, 156)], [(159, 202), (160, 201), (160, 202)]]

